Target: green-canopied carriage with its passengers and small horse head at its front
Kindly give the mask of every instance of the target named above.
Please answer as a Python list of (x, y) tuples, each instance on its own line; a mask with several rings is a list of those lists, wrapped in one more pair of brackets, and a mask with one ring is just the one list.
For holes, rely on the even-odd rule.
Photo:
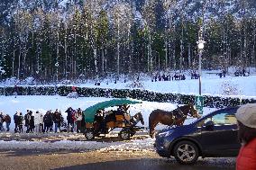
[[(142, 130), (144, 127), (136, 126), (139, 121), (144, 124), (142, 113), (138, 112), (131, 116), (127, 112), (127, 104), (142, 103), (133, 99), (113, 99), (102, 103), (96, 103), (88, 107), (83, 114), (85, 115), (86, 130), (85, 136), (87, 139), (95, 139), (96, 136), (107, 134), (110, 131), (121, 128), (118, 136), (121, 139), (130, 139), (137, 130)], [(117, 111), (105, 112), (105, 108), (118, 106)], [(124, 107), (124, 108), (123, 108)]]

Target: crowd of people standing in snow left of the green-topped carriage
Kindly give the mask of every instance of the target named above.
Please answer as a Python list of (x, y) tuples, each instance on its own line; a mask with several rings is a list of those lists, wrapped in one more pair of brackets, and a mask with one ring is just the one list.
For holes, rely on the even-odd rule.
[[(25, 129), (26, 133), (50, 131), (55, 133), (60, 131), (81, 132), (81, 123), (84, 119), (82, 110), (80, 108), (74, 110), (69, 107), (66, 112), (68, 113), (68, 122), (64, 121), (64, 117), (58, 109), (55, 112), (47, 111), (45, 114), (30, 110), (27, 110), (24, 115), (23, 112), (15, 112), (13, 119), (15, 125), (14, 132), (23, 133), (23, 129)], [(5, 131), (5, 128), (6, 131), (9, 131), (11, 122), (12, 119), (8, 114), (0, 112), (0, 131)], [(61, 129), (61, 127), (63, 128)]]

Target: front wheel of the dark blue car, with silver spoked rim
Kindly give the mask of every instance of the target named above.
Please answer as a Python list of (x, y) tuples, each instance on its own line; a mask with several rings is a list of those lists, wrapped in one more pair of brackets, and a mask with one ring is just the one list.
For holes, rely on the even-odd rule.
[(194, 164), (198, 158), (198, 148), (190, 141), (180, 141), (174, 147), (174, 157), (179, 164), (190, 165)]

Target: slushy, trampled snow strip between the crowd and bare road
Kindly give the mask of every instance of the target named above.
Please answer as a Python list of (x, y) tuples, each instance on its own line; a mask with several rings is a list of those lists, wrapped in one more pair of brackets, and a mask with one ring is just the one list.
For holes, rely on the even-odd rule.
[[(108, 134), (105, 139), (87, 141), (82, 134), (14, 134), (0, 133), (0, 150), (51, 150), (51, 151), (132, 151), (153, 150), (154, 139), (148, 135), (135, 135), (129, 141), (121, 141), (116, 134)], [(129, 149), (128, 149), (129, 148)]]

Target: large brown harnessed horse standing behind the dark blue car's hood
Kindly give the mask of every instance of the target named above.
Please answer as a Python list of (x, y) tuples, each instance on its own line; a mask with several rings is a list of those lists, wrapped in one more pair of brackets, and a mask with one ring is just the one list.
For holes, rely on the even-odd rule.
[(163, 111), (160, 109), (154, 110), (153, 112), (151, 112), (149, 118), (151, 138), (153, 138), (154, 136), (155, 127), (157, 126), (158, 123), (169, 126), (181, 126), (187, 119), (187, 116), (191, 116), (193, 118), (200, 118), (197, 109), (195, 109), (194, 105), (192, 104), (180, 106), (171, 112)]

